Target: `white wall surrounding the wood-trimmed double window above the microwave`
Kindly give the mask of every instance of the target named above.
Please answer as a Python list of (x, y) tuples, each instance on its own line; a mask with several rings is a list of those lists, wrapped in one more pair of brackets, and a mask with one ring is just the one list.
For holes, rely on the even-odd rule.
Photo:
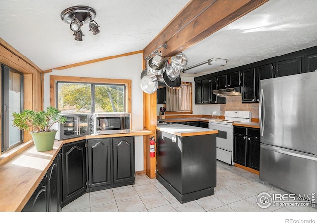
[[(64, 70), (53, 70), (44, 76), (43, 108), (50, 105), (50, 75), (132, 80), (132, 130), (143, 129), (143, 91), (140, 87), (142, 54), (118, 57)], [(135, 137), (135, 171), (143, 170), (143, 136)]]

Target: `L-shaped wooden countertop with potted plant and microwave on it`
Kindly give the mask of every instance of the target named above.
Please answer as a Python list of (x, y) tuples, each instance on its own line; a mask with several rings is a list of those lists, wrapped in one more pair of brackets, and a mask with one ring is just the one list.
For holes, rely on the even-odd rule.
[[(32, 141), (8, 159), (0, 158), (0, 212), (21, 211), (28, 202), (45, 173), (53, 163), (62, 145), (83, 139), (122, 136), (142, 136), (152, 134), (148, 130), (131, 130), (125, 134), (89, 135), (67, 140), (55, 140), (53, 150), (38, 152)], [(15, 149), (7, 151), (13, 153)]]

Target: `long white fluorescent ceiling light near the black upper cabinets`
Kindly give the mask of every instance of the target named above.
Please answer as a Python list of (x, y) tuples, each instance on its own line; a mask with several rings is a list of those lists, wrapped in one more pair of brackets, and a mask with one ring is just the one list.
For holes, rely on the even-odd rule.
[(226, 59), (212, 58), (207, 61), (198, 63), (196, 65), (193, 65), (184, 69), (184, 73), (192, 73), (192, 74), (202, 73), (219, 66), (224, 66), (226, 64), (227, 64)]

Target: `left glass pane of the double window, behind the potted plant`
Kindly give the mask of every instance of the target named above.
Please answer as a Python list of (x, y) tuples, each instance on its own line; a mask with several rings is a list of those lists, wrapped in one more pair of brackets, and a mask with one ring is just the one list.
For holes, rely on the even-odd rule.
[(57, 86), (61, 113), (91, 113), (91, 84), (58, 82)]

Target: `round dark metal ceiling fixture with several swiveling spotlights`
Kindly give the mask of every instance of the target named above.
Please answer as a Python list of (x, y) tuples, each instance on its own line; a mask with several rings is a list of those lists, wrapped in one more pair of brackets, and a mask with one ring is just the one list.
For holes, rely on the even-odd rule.
[(89, 31), (92, 31), (94, 35), (100, 33), (99, 25), (93, 19), (96, 17), (95, 9), (88, 6), (73, 6), (66, 8), (61, 12), (60, 18), (65, 22), (70, 24), (71, 31), (74, 32), (75, 40), (83, 40), (83, 32), (81, 31), (81, 26), (84, 23), (89, 22)]

